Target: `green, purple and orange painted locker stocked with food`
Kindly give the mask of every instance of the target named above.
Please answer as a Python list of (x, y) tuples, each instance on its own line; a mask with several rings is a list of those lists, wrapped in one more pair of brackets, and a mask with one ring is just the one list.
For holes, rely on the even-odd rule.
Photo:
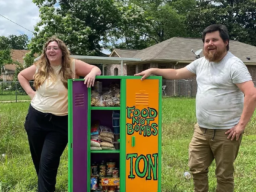
[(68, 80), (69, 192), (161, 191), (162, 77), (140, 79)]

